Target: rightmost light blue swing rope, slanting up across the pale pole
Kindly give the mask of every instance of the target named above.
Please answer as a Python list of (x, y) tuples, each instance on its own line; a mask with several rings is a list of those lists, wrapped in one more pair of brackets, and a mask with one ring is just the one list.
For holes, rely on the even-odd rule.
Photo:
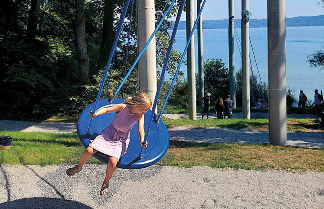
[[(205, 3), (206, 3), (206, 0), (204, 0), (202, 6), (201, 6), (201, 8), (200, 8), (199, 13), (198, 13), (198, 15), (197, 15), (197, 19), (196, 19), (196, 21), (195, 21), (195, 23), (194, 23), (194, 26), (193, 26), (193, 28), (192, 28), (192, 30), (191, 30), (191, 32), (190, 32), (190, 36), (189, 36), (189, 39), (188, 39), (188, 41), (187, 41), (187, 45), (186, 45), (186, 47), (185, 47), (184, 52), (182, 53), (182, 57), (181, 57), (181, 59), (180, 59), (180, 63), (179, 63), (179, 65), (178, 65), (178, 68), (177, 68), (177, 70), (176, 70), (176, 72), (175, 72), (175, 74), (174, 74), (174, 77), (173, 77), (173, 79), (172, 79), (172, 82), (171, 82), (171, 85), (170, 85), (169, 91), (168, 91), (167, 94), (166, 94), (166, 98), (165, 98), (164, 103), (163, 103), (163, 105), (162, 105), (162, 108), (161, 108), (160, 114), (159, 114), (159, 116), (158, 116), (158, 120), (157, 120), (157, 122), (159, 122), (159, 120), (160, 120), (161, 117), (162, 117), (162, 113), (163, 113), (163, 110), (164, 110), (164, 108), (165, 108), (166, 102), (167, 102), (167, 100), (168, 100), (168, 98), (169, 98), (169, 96), (170, 96), (170, 94), (171, 94), (172, 87), (173, 87), (173, 85), (174, 85), (174, 82), (175, 82), (176, 77), (177, 77), (177, 75), (178, 75), (178, 72), (179, 72), (179, 70), (180, 70), (181, 64), (182, 64), (182, 62), (183, 62), (183, 60), (184, 60), (184, 58), (185, 58), (186, 52), (187, 52), (188, 47), (189, 47), (189, 43), (190, 43), (190, 41), (191, 41), (192, 35), (193, 35), (193, 33), (194, 33), (194, 30), (195, 30), (196, 27), (197, 27), (198, 20), (199, 20), (199, 18), (200, 18), (200, 16), (201, 16), (201, 13), (202, 13), (202, 10), (203, 10), (203, 8), (204, 8), (204, 6), (205, 6)], [(146, 133), (145, 133), (145, 134), (146, 134)], [(146, 136), (146, 135), (145, 135), (145, 136)]]

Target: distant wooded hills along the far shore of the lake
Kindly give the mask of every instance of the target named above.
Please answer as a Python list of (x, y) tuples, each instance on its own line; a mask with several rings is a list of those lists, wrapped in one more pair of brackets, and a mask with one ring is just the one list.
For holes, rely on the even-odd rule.
[[(234, 20), (235, 27), (241, 27), (241, 19)], [(250, 27), (267, 27), (267, 19), (250, 19)], [(286, 18), (287, 27), (296, 26), (324, 26), (324, 15)], [(223, 20), (205, 20), (203, 21), (204, 29), (228, 28), (228, 19)], [(179, 23), (179, 29), (186, 29), (186, 22)]]

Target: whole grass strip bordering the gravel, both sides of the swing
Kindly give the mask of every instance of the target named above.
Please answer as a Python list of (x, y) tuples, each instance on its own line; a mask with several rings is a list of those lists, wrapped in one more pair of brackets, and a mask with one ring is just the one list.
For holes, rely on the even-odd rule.
[[(76, 133), (0, 131), (0, 135), (10, 135), (14, 138), (9, 150), (0, 150), (0, 163), (75, 164), (84, 150)], [(87, 163), (102, 164), (94, 157), (91, 157)], [(169, 150), (158, 164), (324, 172), (324, 149), (171, 141)]]

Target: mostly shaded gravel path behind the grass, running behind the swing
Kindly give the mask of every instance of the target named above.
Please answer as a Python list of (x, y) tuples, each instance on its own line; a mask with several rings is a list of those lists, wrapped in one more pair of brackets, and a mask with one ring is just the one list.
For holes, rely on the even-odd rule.
[[(0, 131), (26, 132), (76, 132), (74, 123), (32, 123), (25, 121), (0, 120)], [(169, 139), (189, 142), (233, 142), (233, 143), (268, 143), (268, 131), (252, 131), (245, 129), (194, 129), (189, 127), (168, 128)], [(321, 148), (324, 147), (323, 132), (287, 132), (287, 145)]]

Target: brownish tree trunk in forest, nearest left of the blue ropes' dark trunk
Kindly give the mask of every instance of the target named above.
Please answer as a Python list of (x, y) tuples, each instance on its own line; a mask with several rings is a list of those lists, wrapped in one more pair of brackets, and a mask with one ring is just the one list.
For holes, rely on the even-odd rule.
[(86, 43), (84, 39), (85, 34), (85, 17), (84, 17), (84, 0), (75, 0), (76, 16), (77, 16), (77, 44), (78, 44), (78, 61), (80, 81), (82, 83), (89, 82), (89, 56), (86, 49)]

